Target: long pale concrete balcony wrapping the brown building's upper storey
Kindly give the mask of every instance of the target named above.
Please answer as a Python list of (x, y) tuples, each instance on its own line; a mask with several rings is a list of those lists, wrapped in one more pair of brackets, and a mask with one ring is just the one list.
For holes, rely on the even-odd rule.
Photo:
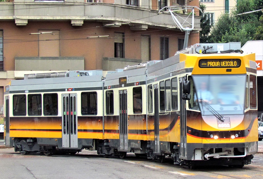
[[(21, 1), (21, 2), (20, 2)], [(25, 1), (25, 0), (24, 0)], [(129, 23), (131, 30), (173, 28), (175, 23), (170, 14), (157, 15), (157, 10), (111, 3), (85, 2), (5, 2), (0, 6), (1, 20), (14, 20), (17, 26), (26, 26), (28, 21), (70, 21), (72, 26), (82, 26), (85, 21), (102, 22), (105, 27), (120, 27)], [(146, 6), (147, 7), (147, 6)], [(148, 6), (149, 7), (149, 6)], [(179, 22), (187, 14), (179, 14)], [(194, 31), (200, 31), (200, 17), (194, 18)], [(126, 24), (127, 25), (127, 24)]]

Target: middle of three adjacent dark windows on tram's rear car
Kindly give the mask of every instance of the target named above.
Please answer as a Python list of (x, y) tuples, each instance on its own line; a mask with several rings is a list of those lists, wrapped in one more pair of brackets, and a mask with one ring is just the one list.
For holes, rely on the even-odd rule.
[(28, 94), (28, 115), (42, 114), (41, 94)]

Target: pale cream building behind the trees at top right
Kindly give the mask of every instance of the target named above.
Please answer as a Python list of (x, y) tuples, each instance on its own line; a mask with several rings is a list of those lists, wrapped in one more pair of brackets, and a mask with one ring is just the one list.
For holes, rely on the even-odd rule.
[(217, 22), (221, 14), (229, 14), (235, 9), (236, 0), (200, 0), (206, 6), (205, 14), (211, 25)]

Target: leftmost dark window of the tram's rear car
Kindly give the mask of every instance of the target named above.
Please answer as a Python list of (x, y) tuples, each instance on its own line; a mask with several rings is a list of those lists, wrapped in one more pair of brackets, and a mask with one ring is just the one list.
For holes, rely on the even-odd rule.
[(25, 116), (26, 111), (26, 95), (17, 94), (13, 95), (13, 115), (14, 116)]

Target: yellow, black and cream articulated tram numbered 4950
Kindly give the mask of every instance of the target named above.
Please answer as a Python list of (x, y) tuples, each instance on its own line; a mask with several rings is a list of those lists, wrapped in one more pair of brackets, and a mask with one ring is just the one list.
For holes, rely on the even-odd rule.
[(67, 71), (11, 81), (6, 145), (21, 154), (134, 152), (190, 168), (250, 164), (258, 145), (255, 54), (198, 48), (106, 77)]

